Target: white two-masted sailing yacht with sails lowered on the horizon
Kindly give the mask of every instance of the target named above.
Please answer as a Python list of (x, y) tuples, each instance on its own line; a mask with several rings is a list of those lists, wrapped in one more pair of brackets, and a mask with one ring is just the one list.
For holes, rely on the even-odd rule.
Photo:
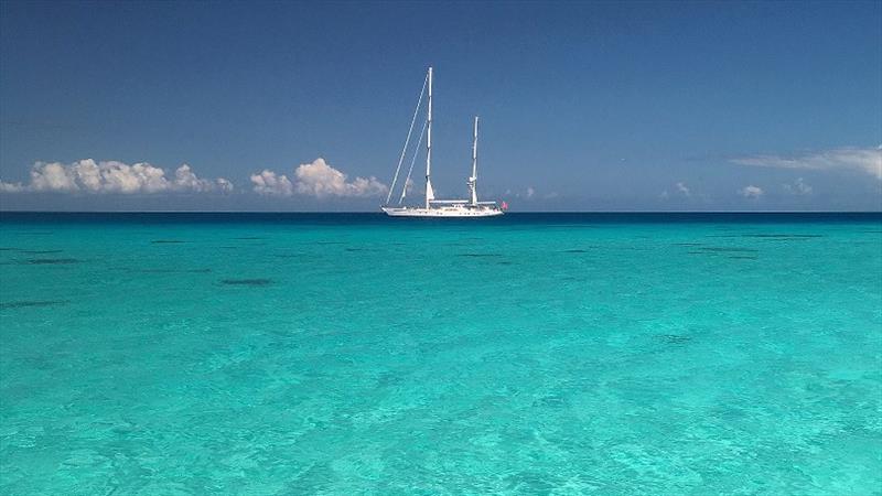
[[(398, 200), (398, 205), (391, 205), (391, 196), (395, 191), (395, 185), (398, 182), (398, 175), (401, 172), (401, 164), (404, 163), (405, 155), (407, 154), (410, 138), (413, 132), (413, 125), (417, 121), (420, 106), (422, 105), (422, 96), (426, 88), (429, 88), (428, 101), (426, 109), (426, 121), (422, 126), (420, 133), (420, 141), (417, 143), (413, 151), (413, 158), (410, 161), (410, 169), (408, 170), (407, 177), (401, 185), (401, 196)], [(423, 133), (426, 136), (426, 203), (422, 206), (406, 206), (405, 197), (407, 196), (407, 188), (410, 185), (410, 174), (413, 171), (413, 163), (417, 160), (420, 143), (422, 142)], [(398, 160), (398, 168), (395, 170), (395, 177), (392, 184), (389, 186), (389, 194), (386, 197), (386, 204), (380, 208), (386, 215), (391, 217), (492, 217), (503, 215), (506, 207), (503, 202), (502, 207), (496, 202), (478, 202), (477, 201), (477, 117), (474, 120), (474, 140), (472, 141), (472, 175), (469, 176), (466, 184), (469, 185), (470, 197), (467, 200), (435, 200), (434, 191), (432, 190), (432, 68), (426, 74), (426, 79), (422, 84), (419, 101), (417, 101), (417, 109), (413, 111), (413, 119), (410, 121), (410, 130), (408, 130), (405, 147), (401, 150), (401, 155)]]

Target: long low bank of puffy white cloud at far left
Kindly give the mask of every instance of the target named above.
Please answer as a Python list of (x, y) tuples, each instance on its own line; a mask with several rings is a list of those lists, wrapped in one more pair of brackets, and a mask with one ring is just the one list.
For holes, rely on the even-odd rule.
[(196, 176), (183, 164), (166, 177), (165, 170), (149, 163), (128, 165), (117, 161), (96, 162), (92, 159), (71, 164), (36, 162), (31, 166), (31, 182), (23, 185), (0, 182), (0, 191), (58, 193), (161, 193), (161, 192), (228, 192), (233, 183), (224, 177), (206, 180)]

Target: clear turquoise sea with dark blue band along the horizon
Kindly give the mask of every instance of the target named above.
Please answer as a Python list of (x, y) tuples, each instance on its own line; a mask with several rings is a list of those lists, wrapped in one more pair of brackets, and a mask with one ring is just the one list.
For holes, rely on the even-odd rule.
[(882, 216), (0, 215), (2, 494), (882, 494)]

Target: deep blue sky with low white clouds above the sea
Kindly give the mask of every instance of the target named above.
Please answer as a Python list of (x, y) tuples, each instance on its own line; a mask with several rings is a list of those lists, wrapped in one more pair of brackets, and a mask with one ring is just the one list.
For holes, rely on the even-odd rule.
[(376, 211), (429, 65), (438, 197), (882, 209), (880, 1), (10, 0), (0, 209)]

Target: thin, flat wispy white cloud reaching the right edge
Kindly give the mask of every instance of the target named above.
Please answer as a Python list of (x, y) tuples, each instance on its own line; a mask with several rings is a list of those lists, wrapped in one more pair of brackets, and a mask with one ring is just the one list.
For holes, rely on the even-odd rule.
[(876, 148), (838, 148), (798, 157), (756, 155), (733, 159), (741, 165), (818, 171), (861, 171), (882, 180), (882, 145)]

